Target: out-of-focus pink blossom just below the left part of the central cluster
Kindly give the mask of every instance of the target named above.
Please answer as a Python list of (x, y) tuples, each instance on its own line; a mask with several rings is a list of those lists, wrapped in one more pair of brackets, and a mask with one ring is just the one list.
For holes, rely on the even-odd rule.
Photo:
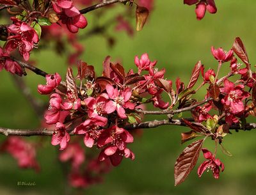
[(85, 155), (84, 150), (78, 143), (68, 144), (66, 150), (60, 153), (59, 159), (62, 162), (68, 160), (72, 161), (72, 168), (79, 169), (79, 166), (84, 162)]

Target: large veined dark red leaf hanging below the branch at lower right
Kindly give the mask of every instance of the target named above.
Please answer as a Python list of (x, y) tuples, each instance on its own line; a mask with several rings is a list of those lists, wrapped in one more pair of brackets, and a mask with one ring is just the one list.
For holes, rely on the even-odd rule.
[(175, 185), (184, 182), (191, 170), (195, 167), (203, 143), (204, 139), (194, 141), (179, 155), (174, 166)]

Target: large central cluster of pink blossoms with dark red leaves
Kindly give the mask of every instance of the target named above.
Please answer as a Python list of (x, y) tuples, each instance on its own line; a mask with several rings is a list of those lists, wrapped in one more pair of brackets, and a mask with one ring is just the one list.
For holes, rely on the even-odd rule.
[[(51, 93), (45, 120), (47, 124), (55, 125), (52, 145), (60, 144), (60, 150), (65, 150), (70, 142), (70, 132), (83, 135), (85, 146), (101, 149), (100, 161), (109, 159), (113, 166), (118, 166), (124, 157), (134, 160), (134, 153), (127, 148), (134, 138), (124, 128), (132, 118), (140, 121), (134, 109), (141, 103), (134, 100), (133, 93), (149, 95), (148, 102), (153, 102), (156, 107), (168, 107), (168, 103), (161, 100), (163, 89), (156, 84), (157, 79), (164, 78), (165, 70), (154, 68), (156, 61), (151, 62), (147, 54), (141, 59), (135, 58), (139, 74), (134, 74), (133, 70), (125, 74), (122, 65), (108, 60), (104, 61), (103, 77), (98, 78), (86, 63), (77, 64), (76, 79), (81, 82), (79, 90), (69, 68), (67, 91), (58, 90), (61, 77), (54, 74), (45, 77), (47, 83), (38, 85), (38, 92), (43, 95)], [(143, 71), (148, 74), (140, 75)], [(86, 79), (84, 84), (83, 77)], [(172, 81), (166, 82), (172, 85)]]

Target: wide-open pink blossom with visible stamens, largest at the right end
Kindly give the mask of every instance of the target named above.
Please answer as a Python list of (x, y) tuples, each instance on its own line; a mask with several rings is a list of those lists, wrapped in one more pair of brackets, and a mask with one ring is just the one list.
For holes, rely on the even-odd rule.
[(221, 93), (225, 95), (221, 99), (221, 103), (227, 105), (230, 108), (230, 112), (233, 114), (244, 111), (243, 100), (250, 97), (250, 93), (243, 90), (243, 84), (235, 86), (235, 84), (228, 79), (225, 79), (224, 86), (221, 88)]

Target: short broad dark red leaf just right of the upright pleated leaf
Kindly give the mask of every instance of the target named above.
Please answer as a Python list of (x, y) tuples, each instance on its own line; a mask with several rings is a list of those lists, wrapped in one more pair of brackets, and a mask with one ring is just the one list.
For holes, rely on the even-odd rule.
[(86, 77), (91, 77), (92, 79), (95, 78), (95, 72), (94, 72), (94, 67), (87, 65), (86, 62), (79, 61), (77, 63), (77, 76), (76, 79), (83, 80)]

